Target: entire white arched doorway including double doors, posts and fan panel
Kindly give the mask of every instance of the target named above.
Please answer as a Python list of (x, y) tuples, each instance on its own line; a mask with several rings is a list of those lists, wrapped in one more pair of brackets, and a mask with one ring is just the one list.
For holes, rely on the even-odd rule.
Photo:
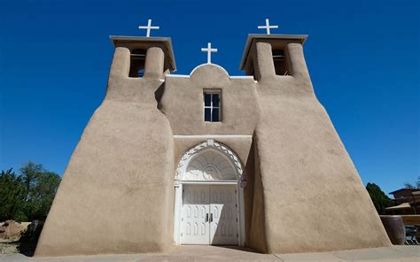
[(209, 139), (188, 150), (175, 175), (176, 244), (245, 243), (245, 175), (237, 155)]

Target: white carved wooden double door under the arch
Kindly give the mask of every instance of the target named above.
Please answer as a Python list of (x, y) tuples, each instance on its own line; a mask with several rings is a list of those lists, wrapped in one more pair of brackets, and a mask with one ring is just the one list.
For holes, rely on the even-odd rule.
[(238, 244), (235, 185), (183, 185), (183, 244)]

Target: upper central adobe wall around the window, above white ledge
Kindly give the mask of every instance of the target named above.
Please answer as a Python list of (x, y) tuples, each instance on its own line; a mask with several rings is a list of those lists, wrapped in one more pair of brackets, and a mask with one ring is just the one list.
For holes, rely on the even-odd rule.
[[(205, 122), (203, 89), (222, 90), (222, 121)], [(231, 78), (220, 66), (198, 65), (190, 76), (167, 75), (159, 108), (174, 135), (253, 135), (260, 119), (253, 77)]]

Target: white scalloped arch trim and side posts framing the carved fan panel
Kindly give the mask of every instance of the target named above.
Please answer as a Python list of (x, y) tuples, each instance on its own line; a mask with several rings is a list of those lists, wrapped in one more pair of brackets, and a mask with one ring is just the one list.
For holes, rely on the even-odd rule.
[[(216, 150), (221, 153), (235, 170), (235, 179), (229, 180), (191, 180), (191, 176), (185, 177), (184, 174), (188, 172), (187, 168), (191, 159), (199, 156), (205, 150)], [(231, 177), (229, 177), (231, 178)], [(242, 169), (242, 164), (237, 158), (237, 155), (222, 143), (214, 142), (213, 139), (208, 139), (206, 142), (199, 143), (197, 146), (188, 150), (181, 158), (178, 164), (175, 175), (175, 205), (174, 205), (174, 242), (181, 244), (182, 231), (182, 213), (183, 213), (183, 185), (197, 184), (197, 185), (234, 185), (237, 194), (237, 232), (238, 245), (245, 244), (245, 206), (244, 206), (244, 188), (246, 185), (245, 173)]]

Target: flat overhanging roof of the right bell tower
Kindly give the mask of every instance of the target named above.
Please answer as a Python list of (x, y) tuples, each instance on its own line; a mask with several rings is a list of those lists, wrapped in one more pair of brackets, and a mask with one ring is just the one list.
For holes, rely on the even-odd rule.
[(253, 51), (254, 42), (269, 42), (273, 48), (284, 48), (289, 42), (300, 42), (303, 44), (307, 41), (307, 35), (266, 35), (266, 34), (250, 34), (245, 44), (244, 55), (241, 59), (239, 70), (245, 70), (247, 59), (250, 58)]

